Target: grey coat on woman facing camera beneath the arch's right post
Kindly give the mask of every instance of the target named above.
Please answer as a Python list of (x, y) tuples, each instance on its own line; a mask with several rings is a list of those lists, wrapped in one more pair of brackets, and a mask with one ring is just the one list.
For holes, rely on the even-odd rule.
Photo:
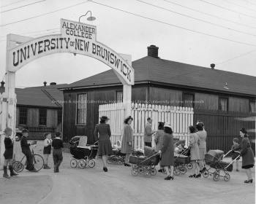
[(132, 143), (133, 141), (133, 133), (132, 133), (132, 127), (128, 124), (124, 125), (124, 132), (123, 132), (123, 138), (121, 141), (121, 153), (124, 154), (131, 154), (132, 153), (132, 145), (129, 146), (129, 142)]

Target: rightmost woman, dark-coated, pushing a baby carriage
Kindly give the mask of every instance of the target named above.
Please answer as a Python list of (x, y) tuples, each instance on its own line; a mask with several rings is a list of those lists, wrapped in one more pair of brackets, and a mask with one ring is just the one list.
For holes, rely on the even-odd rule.
[(234, 149), (233, 151), (241, 149), (241, 156), (243, 157), (242, 160), (242, 168), (245, 169), (247, 174), (248, 180), (244, 181), (244, 183), (252, 183), (252, 170), (255, 164), (255, 155), (252, 152), (251, 144), (249, 142), (249, 138), (247, 135), (247, 131), (243, 128), (240, 130), (240, 136), (242, 139), (241, 144), (239, 144), (238, 148)]

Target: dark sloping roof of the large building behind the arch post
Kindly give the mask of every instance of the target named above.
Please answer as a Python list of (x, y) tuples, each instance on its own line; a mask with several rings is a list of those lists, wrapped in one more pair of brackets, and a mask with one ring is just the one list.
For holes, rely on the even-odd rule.
[[(256, 95), (256, 77), (230, 71), (194, 66), (146, 56), (132, 62), (135, 85), (139, 82), (160, 82), (166, 85), (218, 90), (227, 93)], [(225, 89), (227, 83), (228, 89)], [(121, 85), (114, 71), (108, 70), (62, 88)]]

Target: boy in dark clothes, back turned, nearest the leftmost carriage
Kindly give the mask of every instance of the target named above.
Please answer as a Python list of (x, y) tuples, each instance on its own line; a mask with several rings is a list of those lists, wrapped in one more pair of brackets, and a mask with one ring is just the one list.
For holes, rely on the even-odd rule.
[(63, 160), (62, 149), (64, 148), (63, 141), (61, 140), (61, 133), (55, 133), (56, 138), (53, 140), (53, 162), (54, 162), (54, 173), (59, 173), (59, 165)]

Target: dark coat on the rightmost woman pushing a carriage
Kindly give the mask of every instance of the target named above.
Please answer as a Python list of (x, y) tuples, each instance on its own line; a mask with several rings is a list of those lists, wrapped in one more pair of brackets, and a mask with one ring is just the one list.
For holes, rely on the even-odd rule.
[(241, 156), (243, 157), (242, 168), (246, 165), (254, 165), (255, 164), (255, 155), (252, 152), (251, 144), (249, 142), (249, 138), (244, 137), (239, 144), (238, 148), (235, 150), (241, 149)]

